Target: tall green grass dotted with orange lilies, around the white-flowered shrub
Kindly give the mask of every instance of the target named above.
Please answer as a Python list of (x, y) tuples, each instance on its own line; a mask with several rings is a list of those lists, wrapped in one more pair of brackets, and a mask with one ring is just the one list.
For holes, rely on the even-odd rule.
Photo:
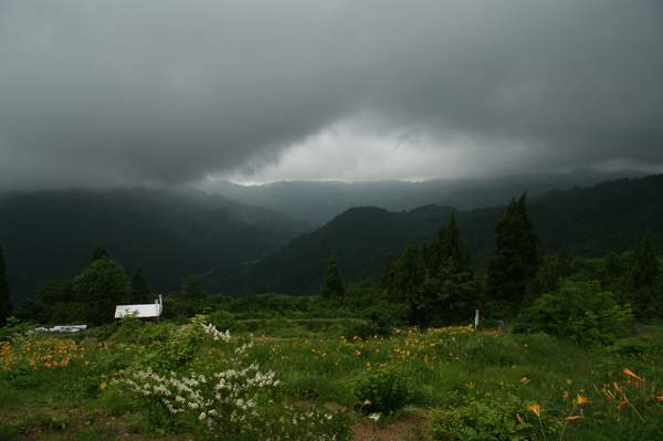
[[(158, 326), (149, 333), (157, 335)], [(630, 336), (611, 348), (587, 349), (545, 334), (477, 333), (470, 327), (359, 338), (339, 335), (337, 326), (317, 333), (284, 326), (256, 338), (241, 363), (274, 371), (292, 402), (335, 401), (366, 411), (380, 409), (379, 401), (389, 399), (389, 412), (402, 406), (429, 410), (439, 439), (464, 427), (496, 435), (514, 430), (532, 440), (663, 439), (659, 337)], [(114, 417), (140, 416), (136, 402), (112, 385), (134, 355), (145, 350), (149, 347), (129, 349), (126, 342), (85, 338), (32, 336), (2, 343), (0, 410), (70, 403), (102, 407)], [(206, 345), (191, 366), (221, 366), (222, 354), (214, 344)], [(367, 390), (386, 390), (388, 381), (398, 384), (402, 393), (364, 397)], [(11, 431), (13, 422), (2, 422)]]

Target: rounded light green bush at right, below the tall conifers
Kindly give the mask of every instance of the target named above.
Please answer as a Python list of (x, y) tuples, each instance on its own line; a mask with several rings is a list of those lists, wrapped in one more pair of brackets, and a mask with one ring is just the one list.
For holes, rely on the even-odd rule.
[(598, 281), (567, 281), (558, 291), (537, 298), (518, 317), (514, 332), (544, 332), (585, 346), (611, 345), (630, 319), (628, 305), (618, 305)]

